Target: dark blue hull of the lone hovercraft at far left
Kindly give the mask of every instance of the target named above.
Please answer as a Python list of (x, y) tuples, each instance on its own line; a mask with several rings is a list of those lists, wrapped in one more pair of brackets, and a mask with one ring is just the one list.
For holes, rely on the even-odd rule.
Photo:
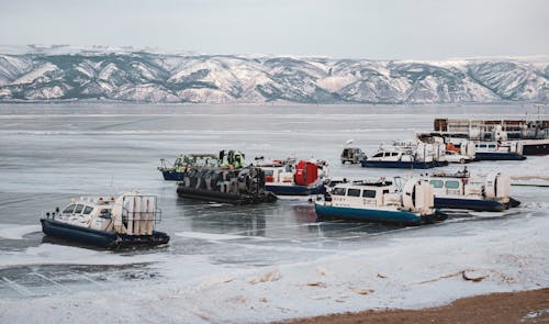
[(163, 232), (153, 232), (153, 235), (123, 235), (66, 224), (49, 219), (41, 219), (40, 221), (42, 232), (48, 236), (105, 248), (163, 245), (170, 239)]

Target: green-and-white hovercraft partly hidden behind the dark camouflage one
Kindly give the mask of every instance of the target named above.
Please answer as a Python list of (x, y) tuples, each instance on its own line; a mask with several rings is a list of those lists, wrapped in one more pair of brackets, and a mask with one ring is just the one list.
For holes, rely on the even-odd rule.
[(181, 181), (184, 170), (194, 167), (217, 166), (219, 159), (214, 154), (189, 154), (180, 155), (171, 166), (168, 166), (169, 164), (164, 158), (160, 159), (160, 164), (158, 170), (163, 174), (164, 180)]

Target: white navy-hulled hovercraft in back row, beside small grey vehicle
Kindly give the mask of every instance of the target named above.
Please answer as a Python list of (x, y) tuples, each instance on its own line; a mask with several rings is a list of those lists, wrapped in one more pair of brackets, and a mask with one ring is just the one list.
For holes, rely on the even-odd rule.
[(402, 168), (430, 169), (447, 166), (441, 145), (432, 144), (393, 144), (383, 146), (371, 156), (365, 157), (360, 164), (366, 168)]

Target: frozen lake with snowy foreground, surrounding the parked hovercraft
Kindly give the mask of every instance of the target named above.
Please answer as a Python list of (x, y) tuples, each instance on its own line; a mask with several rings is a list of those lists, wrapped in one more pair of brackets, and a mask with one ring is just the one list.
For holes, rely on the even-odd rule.
[[(399, 228), (318, 223), (305, 199), (253, 206), (178, 199), (177, 183), (156, 169), (160, 158), (235, 148), (248, 160), (323, 158), (333, 177), (404, 176), (410, 172), (343, 166), (340, 149), (354, 138), (371, 153), (430, 131), (435, 118), (526, 113), (534, 118), (537, 110), (2, 104), (0, 322), (260, 322), (548, 287), (549, 188), (512, 187), (523, 204), (504, 213), (458, 213), (437, 225)], [(469, 169), (542, 181), (549, 157)], [(102, 252), (43, 238), (42, 211), (127, 189), (158, 197), (158, 230), (171, 236), (169, 246)], [(489, 276), (478, 283), (450, 276), (462, 270)]]

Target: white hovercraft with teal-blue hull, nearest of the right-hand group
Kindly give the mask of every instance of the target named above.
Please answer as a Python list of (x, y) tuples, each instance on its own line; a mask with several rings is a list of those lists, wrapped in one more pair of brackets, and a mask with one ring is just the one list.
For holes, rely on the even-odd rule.
[(347, 220), (400, 225), (422, 225), (446, 220), (434, 208), (433, 188), (414, 178), (402, 190), (392, 181), (351, 181), (336, 185), (315, 202), (320, 220)]

